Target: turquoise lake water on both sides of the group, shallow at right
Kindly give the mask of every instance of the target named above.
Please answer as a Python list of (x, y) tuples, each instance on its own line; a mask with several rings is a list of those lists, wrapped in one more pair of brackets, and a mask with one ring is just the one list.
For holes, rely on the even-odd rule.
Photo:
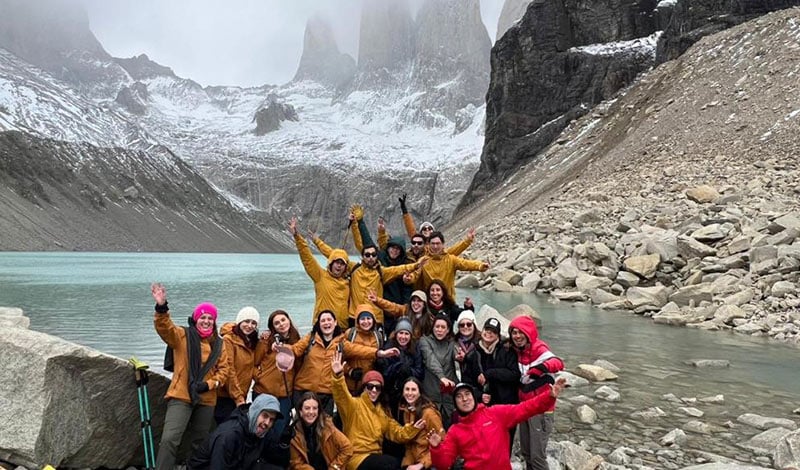
[[(0, 253), (0, 305), (20, 307), (31, 329), (63, 337), (103, 352), (136, 355), (158, 367), (164, 345), (152, 324), (149, 285), (163, 282), (176, 321), (185, 322), (191, 308), (209, 300), (221, 321), (232, 321), (245, 305), (266, 319), (276, 308), (287, 310), (301, 331), (310, 327), (314, 302), (312, 283), (297, 255), (176, 253)], [(606, 312), (568, 303), (551, 304), (535, 295), (460, 290), (459, 302), (471, 296), (477, 308), (490, 304), (503, 312), (527, 303), (542, 316), (542, 338), (565, 359), (567, 369), (606, 359), (622, 369), (611, 385), (622, 394), (619, 403), (597, 401), (600, 420), (594, 428), (570, 418), (575, 406), (561, 400), (557, 429), (574, 442), (586, 439), (613, 450), (626, 443), (657, 441), (690, 418), (662, 395), (693, 398), (724, 394), (722, 404), (687, 404), (702, 409), (709, 424), (735, 421), (742, 413), (797, 418), (800, 406), (798, 350), (767, 339), (729, 332), (707, 332), (655, 325), (631, 313)], [(692, 359), (726, 359), (729, 368), (703, 369)], [(601, 384), (572, 388), (567, 397), (593, 396)], [(659, 406), (668, 413), (645, 423), (630, 413)], [(662, 430), (666, 430), (662, 432)], [(736, 447), (755, 428), (728, 429), (699, 436), (696, 447), (728, 457), (748, 452)], [(659, 434), (661, 433), (661, 434)], [(652, 436), (649, 436), (652, 434)], [(692, 435), (694, 436), (694, 435)]]

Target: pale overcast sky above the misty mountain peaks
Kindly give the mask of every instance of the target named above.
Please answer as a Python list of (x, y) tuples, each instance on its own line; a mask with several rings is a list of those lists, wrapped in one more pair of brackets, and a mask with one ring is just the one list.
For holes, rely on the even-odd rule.
[[(145, 53), (204, 86), (291, 80), (313, 14), (328, 18), (339, 49), (357, 58), (362, 1), (382, 0), (228, 0), (224, 7), (216, 0), (82, 0), (111, 55)], [(411, 2), (418, 8), (422, 0)], [(481, 0), (492, 40), (502, 7), (503, 0)]]

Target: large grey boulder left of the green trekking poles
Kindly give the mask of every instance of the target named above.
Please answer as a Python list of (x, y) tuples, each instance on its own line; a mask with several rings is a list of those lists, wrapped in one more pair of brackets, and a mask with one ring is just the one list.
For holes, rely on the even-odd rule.
[[(125, 468), (143, 461), (133, 369), (125, 361), (23, 328), (0, 337), (0, 449), (28, 468)], [(166, 377), (150, 375), (158, 443)]]

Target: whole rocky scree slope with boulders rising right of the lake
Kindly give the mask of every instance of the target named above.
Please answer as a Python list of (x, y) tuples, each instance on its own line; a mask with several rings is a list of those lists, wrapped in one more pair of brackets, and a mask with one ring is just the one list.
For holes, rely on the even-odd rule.
[(659, 323), (800, 341), (800, 9), (699, 41), (458, 218), (495, 268)]

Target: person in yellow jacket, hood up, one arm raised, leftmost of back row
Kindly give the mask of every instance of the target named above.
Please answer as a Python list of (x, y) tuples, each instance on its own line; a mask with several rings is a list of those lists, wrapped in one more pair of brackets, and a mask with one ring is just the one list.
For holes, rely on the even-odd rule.
[(350, 259), (347, 257), (347, 252), (329, 247), (323, 253), (328, 258), (328, 265), (322, 267), (297, 229), (297, 218), (295, 217), (289, 221), (289, 232), (294, 237), (300, 261), (303, 262), (303, 269), (314, 281), (314, 315), (311, 323), (317, 322), (320, 312), (329, 310), (336, 315), (336, 323), (339, 324), (339, 327), (347, 328), (349, 316), (347, 304), (350, 299), (350, 280), (347, 278)]

